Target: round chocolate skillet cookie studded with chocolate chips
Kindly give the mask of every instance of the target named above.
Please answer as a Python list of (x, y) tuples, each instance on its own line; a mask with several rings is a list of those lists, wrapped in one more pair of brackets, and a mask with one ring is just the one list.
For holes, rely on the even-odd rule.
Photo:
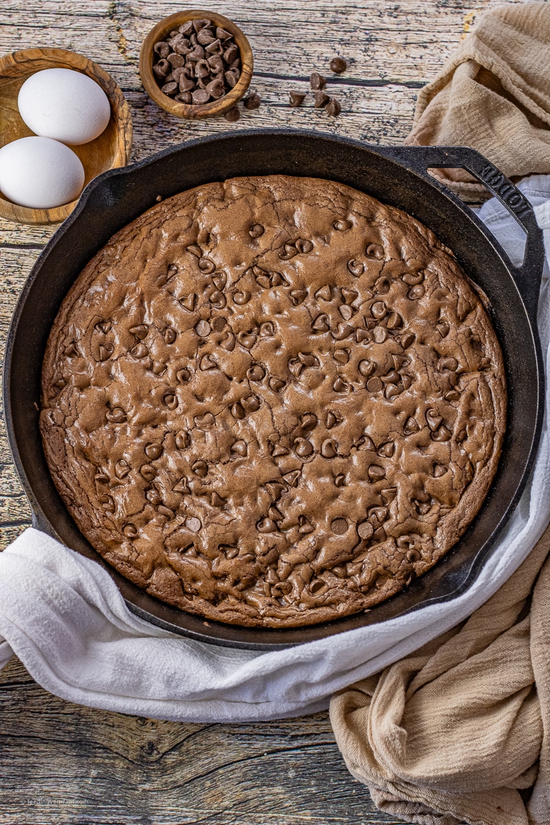
[(165, 200), (78, 277), (40, 427), (82, 533), (153, 596), (237, 625), (373, 606), (486, 496), (501, 350), (454, 256), (331, 181)]

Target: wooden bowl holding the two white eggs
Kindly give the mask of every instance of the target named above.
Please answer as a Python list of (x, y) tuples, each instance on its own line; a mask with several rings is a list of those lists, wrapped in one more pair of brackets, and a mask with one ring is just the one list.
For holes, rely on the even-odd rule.
[[(0, 58), (0, 146), (34, 134), (21, 119), (17, 96), (26, 79), (45, 68), (71, 68), (87, 74), (99, 83), (110, 101), (106, 130), (88, 144), (71, 146), (84, 167), (84, 186), (107, 169), (125, 166), (132, 148), (132, 118), (125, 96), (101, 66), (65, 49), (26, 49)], [(0, 216), (19, 224), (57, 224), (68, 218), (77, 202), (73, 200), (54, 209), (31, 209), (12, 203), (0, 193)]]

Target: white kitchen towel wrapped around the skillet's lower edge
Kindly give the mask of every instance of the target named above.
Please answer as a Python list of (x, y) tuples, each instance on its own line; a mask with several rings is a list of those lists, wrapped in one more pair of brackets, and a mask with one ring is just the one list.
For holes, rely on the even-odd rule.
[[(550, 176), (519, 187), (550, 255)], [(523, 234), (496, 201), (480, 217), (519, 264)], [(548, 262), (538, 327), (550, 386)], [(520, 342), (518, 342), (520, 345)], [(132, 615), (106, 571), (37, 530), (0, 554), (0, 667), (12, 653), (46, 690), (81, 705), (195, 722), (275, 719), (326, 708), (333, 691), (378, 672), (477, 610), (529, 554), (550, 519), (550, 403), (538, 458), (496, 552), (468, 592), (409, 615), (273, 653), (191, 641)]]

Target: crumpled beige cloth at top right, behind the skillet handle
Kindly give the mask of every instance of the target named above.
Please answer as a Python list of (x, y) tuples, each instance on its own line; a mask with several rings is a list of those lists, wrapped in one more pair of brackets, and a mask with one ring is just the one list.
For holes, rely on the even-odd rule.
[[(550, 172), (550, 3), (482, 15), (421, 90), (405, 143), (472, 146), (513, 180)], [(487, 196), (467, 172), (442, 177), (462, 196)]]

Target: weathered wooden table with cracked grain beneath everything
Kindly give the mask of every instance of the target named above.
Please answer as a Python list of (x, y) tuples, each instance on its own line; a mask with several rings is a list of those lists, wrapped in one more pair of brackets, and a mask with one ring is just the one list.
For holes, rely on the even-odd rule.
[[(479, 2), (479, 0), (478, 0)], [(134, 118), (133, 159), (222, 130), (284, 125), (372, 143), (400, 143), (416, 91), (433, 78), (475, 16), (502, 0), (218, 0), (254, 50), (251, 88), (262, 98), (236, 124), (182, 122), (160, 111), (139, 82), (144, 35), (176, 0), (3, 0), (0, 54), (58, 46), (96, 60), (120, 83)], [(519, 0), (518, 0), (519, 2)], [(208, 3), (204, 5), (208, 6)], [(313, 109), (313, 70), (330, 75), (342, 113)], [(0, 117), (2, 113), (0, 112)], [(35, 258), (54, 232), (0, 221), (0, 338)], [(30, 523), (0, 434), (0, 549)], [(327, 714), (269, 724), (175, 724), (70, 705), (38, 686), (16, 660), (0, 673), (0, 823), (395, 823), (341, 760)]]

